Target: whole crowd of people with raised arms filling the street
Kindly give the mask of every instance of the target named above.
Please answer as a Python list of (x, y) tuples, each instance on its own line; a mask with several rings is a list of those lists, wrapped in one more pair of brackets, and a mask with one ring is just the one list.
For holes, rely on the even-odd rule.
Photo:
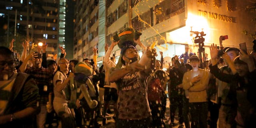
[(58, 128), (98, 128), (98, 120), (106, 125), (112, 104), (117, 128), (165, 128), (167, 98), (170, 128), (217, 128), (217, 122), (218, 128), (254, 126), (256, 44), (249, 54), (224, 48), (220, 36), (220, 49), (210, 46), (206, 68), (185, 46), (163, 70), (163, 52), (144, 46), (140, 38), (122, 47), (116, 64), (111, 53), (119, 42), (106, 44), (100, 67), (97, 48), (94, 58), (83, 62), (67, 60), (62, 47), (59, 60), (47, 60), (45, 42), (27, 55), (26, 41), (15, 62), (12, 45), (0, 46), (0, 127), (51, 128), (55, 122)]

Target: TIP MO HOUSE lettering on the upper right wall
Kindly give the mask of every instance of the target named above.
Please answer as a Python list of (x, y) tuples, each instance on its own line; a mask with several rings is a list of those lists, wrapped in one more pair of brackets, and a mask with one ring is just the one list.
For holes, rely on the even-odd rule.
[(198, 10), (198, 14), (199, 16), (204, 16), (204, 17), (206, 16), (209, 19), (216, 19), (216, 20), (221, 20), (225, 22), (236, 23), (236, 18), (232, 16), (226, 16), (226, 15), (217, 14), (214, 12), (207, 12), (203, 10)]

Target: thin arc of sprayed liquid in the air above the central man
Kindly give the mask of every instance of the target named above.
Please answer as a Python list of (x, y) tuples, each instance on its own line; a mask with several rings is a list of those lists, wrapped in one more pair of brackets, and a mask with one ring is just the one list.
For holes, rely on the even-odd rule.
[[(138, 8), (137, 8), (137, 5), (138, 5), (139, 2), (140, 2), (140, 0), (136, 0), (136, 1), (134, 2), (134, 12), (135, 12), (136, 15), (138, 16), (138, 20), (139, 20), (140, 22), (143, 22), (144, 24), (148, 25), (150, 28), (152, 28), (152, 30), (154, 30), (154, 31), (161, 37), (160, 39), (161, 39), (161, 40), (164, 40), (164, 44), (166, 44), (166, 48), (163, 47), (163, 46), (158, 45), (158, 44), (157, 44), (157, 43), (158, 43), (157, 40), (154, 41), (154, 42), (152, 42), (152, 44), (155, 43), (155, 46), (158, 47), (158, 48), (159, 48), (160, 50), (162, 50), (162, 51), (168, 50), (168, 45), (167, 45), (166, 39), (158, 32), (158, 30), (156, 30), (156, 29), (153, 28), (150, 24), (148, 24), (146, 21), (144, 21), (144, 20), (142, 20), (142, 18), (140, 18), (139, 10), (138, 10)], [(136, 3), (137, 3), (137, 4), (136, 4)]]

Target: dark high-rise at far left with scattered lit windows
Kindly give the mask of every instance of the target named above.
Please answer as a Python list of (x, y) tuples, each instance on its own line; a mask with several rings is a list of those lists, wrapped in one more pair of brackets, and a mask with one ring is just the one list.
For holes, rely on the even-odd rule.
[(16, 18), (17, 32), (34, 44), (46, 41), (48, 54), (60, 54), (58, 44), (65, 46), (65, 0), (0, 0), (0, 5), (0, 16), (9, 19), (9, 27)]

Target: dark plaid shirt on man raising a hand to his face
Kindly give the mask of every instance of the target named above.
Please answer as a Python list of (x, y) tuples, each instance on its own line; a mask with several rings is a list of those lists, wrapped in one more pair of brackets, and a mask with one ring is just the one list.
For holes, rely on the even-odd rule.
[(41, 98), (41, 103), (46, 104), (48, 102), (48, 95), (50, 92), (53, 92), (53, 74), (46, 68), (29, 68), (25, 71), (27, 74), (30, 74), (36, 85), (39, 88), (39, 95)]

